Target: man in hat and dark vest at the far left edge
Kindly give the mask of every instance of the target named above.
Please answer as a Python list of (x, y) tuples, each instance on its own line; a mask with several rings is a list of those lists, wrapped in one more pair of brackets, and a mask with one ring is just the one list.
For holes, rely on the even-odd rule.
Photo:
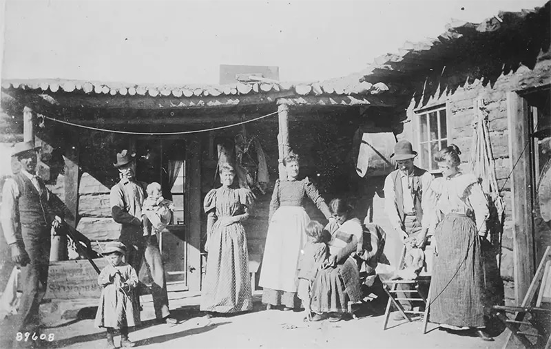
[[(21, 170), (4, 183), (0, 220), (12, 260), (22, 267), (23, 295), (14, 329), (22, 335), (30, 333), (28, 341), (15, 344), (40, 347), (39, 305), (48, 282), (50, 232), (52, 226), (58, 229), (63, 220), (61, 208), (54, 207), (53, 194), (35, 174), (37, 149), (32, 141), (14, 146), (12, 157), (17, 158)], [(13, 339), (17, 341), (17, 335)]]

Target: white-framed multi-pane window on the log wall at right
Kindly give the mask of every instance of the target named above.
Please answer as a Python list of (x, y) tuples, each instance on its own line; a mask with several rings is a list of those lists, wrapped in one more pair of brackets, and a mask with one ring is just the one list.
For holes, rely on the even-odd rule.
[(422, 169), (438, 171), (435, 155), (448, 146), (448, 120), (446, 105), (422, 110), (417, 114), (417, 140), (419, 140), (419, 162)]

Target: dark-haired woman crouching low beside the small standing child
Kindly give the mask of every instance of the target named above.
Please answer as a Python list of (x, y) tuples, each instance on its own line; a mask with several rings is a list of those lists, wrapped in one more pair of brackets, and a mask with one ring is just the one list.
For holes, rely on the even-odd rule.
[(359, 302), (362, 297), (360, 273), (351, 256), (362, 254), (362, 223), (352, 217), (352, 207), (346, 200), (332, 200), (329, 209), (336, 219), (325, 227), (331, 233), (331, 255), (324, 268), (318, 271), (311, 288), (312, 321), (328, 316), (330, 321), (339, 321), (348, 311), (348, 303)]

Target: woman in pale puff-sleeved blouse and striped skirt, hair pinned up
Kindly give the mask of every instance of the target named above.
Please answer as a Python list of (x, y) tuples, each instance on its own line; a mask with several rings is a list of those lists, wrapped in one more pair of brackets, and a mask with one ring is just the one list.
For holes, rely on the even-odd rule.
[(459, 169), (457, 145), (442, 148), (435, 160), (442, 177), (433, 180), (435, 260), (430, 285), (431, 322), (471, 330), (485, 341), (484, 275), (481, 239), (486, 237), (488, 202), (478, 178)]

